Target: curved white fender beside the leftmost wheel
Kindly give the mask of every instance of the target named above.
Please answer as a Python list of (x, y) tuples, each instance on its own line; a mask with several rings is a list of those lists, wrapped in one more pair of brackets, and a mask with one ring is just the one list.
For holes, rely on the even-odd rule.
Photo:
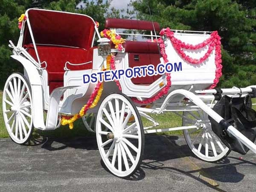
[(36, 105), (33, 105), (32, 103), (33, 125), (35, 128), (44, 129), (43, 90), (40, 74), (35, 65), (23, 56), (11, 55), (11, 57), (23, 65), (29, 78), (28, 80), (32, 91), (32, 102), (36, 101)]

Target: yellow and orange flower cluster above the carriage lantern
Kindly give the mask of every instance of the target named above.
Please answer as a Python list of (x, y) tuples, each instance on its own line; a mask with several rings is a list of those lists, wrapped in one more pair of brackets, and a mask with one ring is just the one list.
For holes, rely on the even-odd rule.
[(102, 37), (108, 38), (115, 45), (115, 48), (119, 51), (123, 50), (122, 44), (125, 42), (125, 39), (121, 38), (120, 35), (116, 35), (115, 30), (104, 29), (100, 32)]

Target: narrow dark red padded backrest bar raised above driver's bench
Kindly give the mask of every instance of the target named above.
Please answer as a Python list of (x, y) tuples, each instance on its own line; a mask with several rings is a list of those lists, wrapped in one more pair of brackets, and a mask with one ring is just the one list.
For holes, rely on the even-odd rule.
[(154, 22), (154, 27), (151, 21), (145, 20), (132, 20), (132, 19), (115, 19), (107, 18), (105, 21), (106, 28), (116, 28), (116, 29), (137, 29), (137, 30), (148, 30), (160, 31), (160, 25)]

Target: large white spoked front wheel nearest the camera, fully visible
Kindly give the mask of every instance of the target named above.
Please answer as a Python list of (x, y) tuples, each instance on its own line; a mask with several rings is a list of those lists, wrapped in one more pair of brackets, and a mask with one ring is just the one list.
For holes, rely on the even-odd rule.
[[(132, 122), (131, 117), (134, 117)], [(130, 98), (111, 93), (102, 101), (96, 119), (96, 137), (102, 160), (111, 173), (124, 178), (136, 172), (144, 153), (144, 131), (140, 114)]]

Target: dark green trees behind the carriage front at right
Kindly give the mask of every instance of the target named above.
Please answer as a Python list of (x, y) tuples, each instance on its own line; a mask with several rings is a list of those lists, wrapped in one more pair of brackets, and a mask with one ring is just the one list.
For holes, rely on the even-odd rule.
[(219, 32), (223, 74), (220, 86), (256, 84), (256, 0), (136, 0), (137, 18), (162, 27)]

